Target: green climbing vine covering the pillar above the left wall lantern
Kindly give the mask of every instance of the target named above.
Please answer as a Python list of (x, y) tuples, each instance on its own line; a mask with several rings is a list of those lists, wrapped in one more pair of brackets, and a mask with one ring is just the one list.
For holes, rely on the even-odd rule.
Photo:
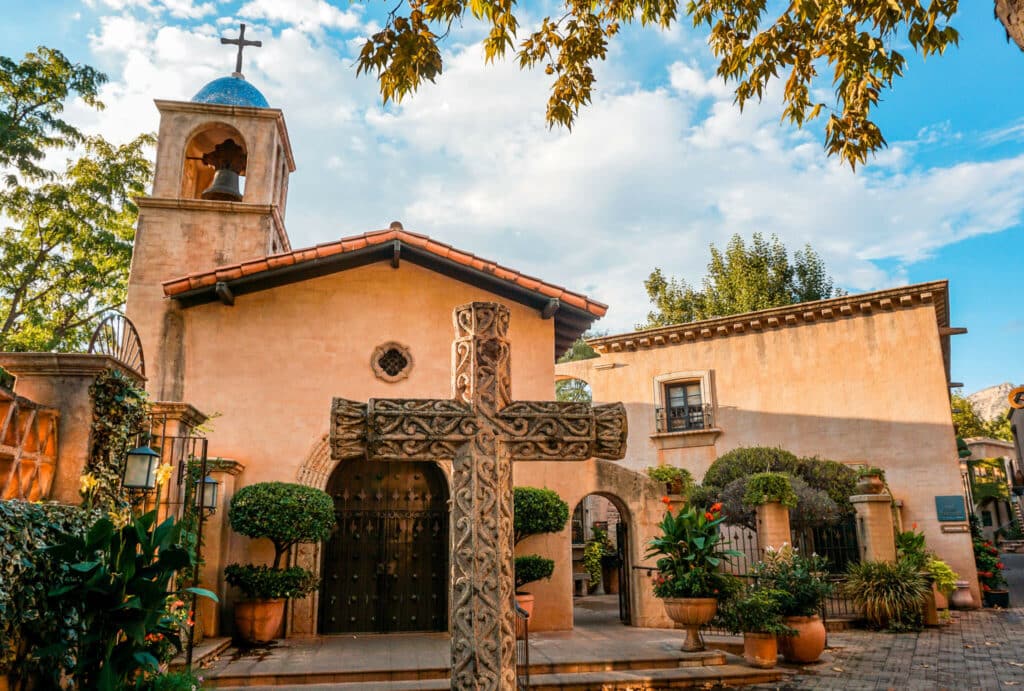
[(145, 392), (123, 373), (108, 370), (89, 387), (92, 427), (82, 496), (103, 511), (122, 510), (128, 499), (121, 488), (125, 455), (144, 430)]

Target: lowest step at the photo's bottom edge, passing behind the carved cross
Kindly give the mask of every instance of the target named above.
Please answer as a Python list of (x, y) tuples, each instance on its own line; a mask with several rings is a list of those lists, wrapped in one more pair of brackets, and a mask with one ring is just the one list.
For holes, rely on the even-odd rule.
[[(530, 675), (529, 688), (535, 691), (654, 691), (657, 689), (720, 688), (723, 686), (745, 686), (750, 684), (770, 684), (794, 674), (793, 671), (776, 667), (757, 670), (742, 664), (717, 664), (687, 667), (628, 670), (561, 673)], [(251, 689), (259, 691), (281, 691), (282, 686), (246, 685), (219, 687), (224, 691)], [(289, 685), (287, 688), (301, 691), (445, 691), (447, 679), (416, 681), (369, 681), (337, 684)]]

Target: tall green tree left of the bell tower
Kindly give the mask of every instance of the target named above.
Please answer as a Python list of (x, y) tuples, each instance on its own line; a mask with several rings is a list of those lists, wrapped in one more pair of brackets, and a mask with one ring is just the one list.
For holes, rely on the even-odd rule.
[[(0, 350), (69, 350), (124, 302), (137, 209), (152, 175), (139, 135), (116, 145), (61, 119), (73, 95), (96, 109), (105, 77), (41, 47), (0, 57)], [(60, 148), (62, 171), (43, 166)]]

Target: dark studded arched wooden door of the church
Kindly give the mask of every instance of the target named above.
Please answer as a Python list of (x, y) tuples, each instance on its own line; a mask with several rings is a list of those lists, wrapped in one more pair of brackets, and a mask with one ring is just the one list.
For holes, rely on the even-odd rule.
[(323, 634), (447, 631), (447, 482), (432, 463), (339, 464), (324, 550)]

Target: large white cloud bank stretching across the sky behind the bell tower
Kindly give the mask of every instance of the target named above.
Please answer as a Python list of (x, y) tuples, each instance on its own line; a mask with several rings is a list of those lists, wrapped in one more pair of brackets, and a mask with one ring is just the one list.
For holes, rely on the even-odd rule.
[[(450, 48), (437, 84), (385, 109), (374, 77), (355, 78), (357, 9), (252, 0), (239, 14), (275, 27), (253, 26), (264, 43), (246, 51), (245, 72), (288, 120), (294, 246), (399, 219), (609, 303), (602, 329), (643, 318), (654, 266), (697, 280), (708, 244), (733, 232), (809, 242), (845, 288), (868, 290), (1024, 215), (1019, 185), (991, 184), (1018, 179), (1024, 157), (924, 168), (916, 142), (899, 142), (853, 174), (825, 159), (819, 133), (779, 125), (777, 94), (740, 114), (731, 89), (689, 58), (642, 87), (614, 62), (622, 55), (599, 64), (594, 103), (569, 133), (544, 122), (550, 77), (485, 66), (479, 45)], [(230, 72), (233, 52), (214, 27), (151, 19), (100, 21), (91, 45), (113, 77), (109, 107), (76, 122), (91, 118), (116, 139), (154, 131), (153, 98), (188, 98)], [(918, 139), (943, 136), (940, 124)]]

